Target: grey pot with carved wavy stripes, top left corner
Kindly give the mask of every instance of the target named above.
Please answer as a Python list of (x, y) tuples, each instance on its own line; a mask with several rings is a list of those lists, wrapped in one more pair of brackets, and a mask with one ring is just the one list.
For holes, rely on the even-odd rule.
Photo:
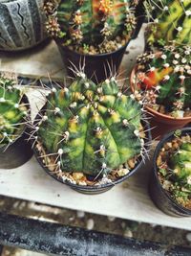
[(43, 0), (0, 0), (0, 50), (19, 51), (46, 37)]

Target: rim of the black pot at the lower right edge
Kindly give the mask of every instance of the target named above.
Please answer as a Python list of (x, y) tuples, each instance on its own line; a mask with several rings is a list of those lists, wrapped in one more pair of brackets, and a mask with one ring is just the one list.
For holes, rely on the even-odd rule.
[[(179, 129), (181, 131), (181, 135), (183, 135), (184, 133), (190, 133), (191, 135), (191, 128), (180, 128)], [(187, 131), (187, 132), (186, 132)], [(159, 182), (159, 175), (158, 175), (158, 166), (157, 166), (157, 158), (159, 155), (159, 151), (160, 149), (163, 147), (164, 143), (167, 141), (171, 141), (172, 138), (175, 137), (174, 134), (175, 130), (169, 132), (168, 134), (166, 134), (160, 141), (159, 144), (157, 145), (155, 151), (154, 151), (154, 157), (153, 157), (153, 166), (154, 166), (154, 172), (153, 174), (155, 175), (155, 178), (157, 180), (157, 185), (159, 186), (159, 188), (161, 189), (161, 191), (163, 192), (163, 194), (165, 195), (166, 198), (168, 198), (177, 208), (179, 208), (180, 210), (188, 213), (189, 215), (191, 215), (191, 210), (187, 209), (185, 207), (183, 207), (182, 205), (180, 205), (177, 201), (175, 201), (170, 194), (162, 188), (161, 183)]]

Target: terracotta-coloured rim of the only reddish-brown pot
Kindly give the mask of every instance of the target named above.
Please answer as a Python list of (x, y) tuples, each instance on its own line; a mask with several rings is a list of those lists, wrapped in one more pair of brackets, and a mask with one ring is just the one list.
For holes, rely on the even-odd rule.
[[(131, 74), (130, 74), (130, 88), (131, 88), (131, 90), (132, 90), (132, 92), (134, 93), (134, 91), (135, 91), (135, 83), (133, 82), (134, 81), (134, 77), (136, 76), (136, 73), (137, 73), (137, 71), (138, 71), (138, 64), (136, 64), (134, 67), (133, 67), (133, 69), (132, 69), (132, 71), (131, 71)], [(155, 109), (153, 109), (153, 108), (151, 108), (151, 107), (149, 107), (149, 106), (145, 106), (145, 108), (149, 111), (149, 112), (151, 112), (153, 115), (155, 115), (155, 116), (158, 116), (158, 117), (160, 117), (160, 118), (163, 118), (163, 119), (165, 119), (165, 120), (168, 120), (169, 122), (170, 121), (183, 121), (183, 122), (185, 122), (185, 121), (190, 121), (191, 122), (191, 116), (187, 116), (187, 117), (183, 117), (183, 118), (176, 118), (176, 117), (172, 117), (172, 116), (169, 116), (169, 115), (166, 115), (166, 114), (162, 114), (162, 113), (159, 113), (159, 111), (157, 111), (157, 110), (155, 110)]]

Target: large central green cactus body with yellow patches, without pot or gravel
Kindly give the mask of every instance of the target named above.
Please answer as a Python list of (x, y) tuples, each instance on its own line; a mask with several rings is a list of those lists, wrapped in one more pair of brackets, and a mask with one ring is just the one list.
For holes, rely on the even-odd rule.
[(140, 153), (140, 108), (114, 79), (97, 87), (79, 78), (48, 97), (37, 136), (61, 171), (107, 174)]

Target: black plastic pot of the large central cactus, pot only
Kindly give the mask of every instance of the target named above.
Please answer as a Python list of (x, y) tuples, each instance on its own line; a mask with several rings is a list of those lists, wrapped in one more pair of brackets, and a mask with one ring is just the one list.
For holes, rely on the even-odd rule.
[[(151, 132), (150, 132), (150, 126), (148, 123), (144, 124), (145, 130), (146, 131), (146, 142), (151, 141)], [(149, 146), (147, 146), (147, 149), (149, 148)], [(72, 189), (74, 189), (75, 191), (82, 193), (82, 194), (88, 194), (88, 195), (96, 195), (96, 194), (100, 194), (103, 192), (106, 192), (110, 189), (112, 189), (115, 185), (117, 185), (118, 183), (121, 183), (122, 181), (124, 181), (125, 179), (129, 178), (131, 175), (134, 175), (138, 169), (141, 167), (142, 165), (142, 159), (141, 157), (139, 157), (138, 159), (138, 164), (136, 165), (136, 167), (127, 175), (124, 175), (120, 178), (118, 178), (116, 181), (112, 182), (112, 183), (107, 183), (107, 184), (103, 184), (103, 185), (95, 185), (95, 186), (82, 186), (82, 185), (75, 185), (73, 183), (71, 183), (70, 181), (63, 181), (62, 179), (57, 178), (56, 175), (53, 175), (52, 173), (50, 173), (50, 170), (44, 166), (43, 162), (42, 162), (42, 158), (39, 157), (39, 152), (35, 149), (35, 147), (33, 148), (34, 151), (34, 155), (38, 161), (38, 163), (40, 164), (40, 166), (45, 170), (45, 172), (48, 175), (53, 176), (54, 179), (56, 179), (57, 181), (69, 185)]]

